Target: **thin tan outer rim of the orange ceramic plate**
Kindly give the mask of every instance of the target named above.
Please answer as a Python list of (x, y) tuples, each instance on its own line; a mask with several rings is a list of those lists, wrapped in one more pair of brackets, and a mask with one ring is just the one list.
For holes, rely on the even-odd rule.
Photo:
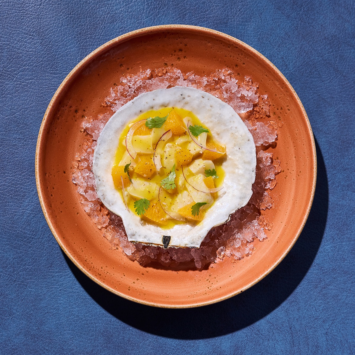
[[(203, 34), (206, 35), (212, 35), (214, 37), (217, 38), (224, 38), (226, 40), (235, 42), (236, 44), (241, 45), (242, 47), (245, 47), (246, 49), (250, 50), (254, 55), (258, 56), (260, 59), (262, 59), (264, 62), (266, 62), (270, 68), (272, 70), (274, 70), (279, 76), (281, 76), (285, 82), (285, 84), (288, 86), (288, 88), (290, 89), (291, 93), (294, 95), (297, 104), (299, 105), (299, 108), (301, 109), (305, 119), (306, 119), (306, 125), (307, 125), (307, 129), (308, 132), (310, 134), (310, 138), (311, 138), (311, 145), (312, 145), (312, 158), (314, 159), (314, 165), (313, 165), (313, 171), (312, 171), (312, 190), (311, 190), (311, 195), (308, 201), (308, 206), (306, 209), (306, 213), (304, 214), (304, 217), (302, 219), (302, 223), (299, 226), (299, 229), (297, 230), (296, 235), (294, 236), (293, 240), (291, 241), (290, 245), (288, 246), (288, 248), (283, 252), (283, 254), (278, 258), (278, 260), (273, 263), (273, 265), (271, 267), (269, 267), (262, 275), (260, 275), (260, 277), (258, 277), (256, 280), (254, 280), (253, 282), (249, 283), (248, 285), (246, 285), (244, 288), (236, 290), (235, 292), (232, 292), (228, 295), (225, 295), (223, 297), (218, 297), (217, 299), (213, 299), (210, 301), (206, 301), (206, 302), (195, 302), (195, 303), (191, 303), (191, 304), (179, 304), (179, 305), (172, 305), (172, 304), (159, 304), (159, 303), (154, 303), (154, 302), (147, 302), (141, 299), (137, 299), (135, 297), (131, 297), (129, 295), (120, 293), (117, 290), (114, 290), (113, 288), (111, 288), (110, 286), (102, 283), (100, 280), (98, 280), (97, 278), (95, 278), (93, 275), (91, 275), (89, 272), (87, 272), (80, 263), (78, 263), (75, 258), (71, 255), (71, 253), (66, 249), (66, 247), (64, 246), (64, 244), (61, 242), (59, 236), (56, 234), (55, 228), (51, 222), (51, 219), (48, 217), (47, 211), (48, 208), (44, 202), (44, 191), (42, 191), (42, 187), (41, 187), (41, 178), (40, 178), (40, 170), (41, 170), (41, 161), (40, 161), (40, 155), (41, 152), (43, 151), (44, 148), (44, 141), (45, 141), (45, 136), (47, 133), (47, 129), (49, 127), (50, 124), (50, 116), (52, 114), (52, 111), (55, 108), (56, 103), (58, 102), (58, 100), (61, 98), (62, 94), (65, 92), (65, 89), (71, 84), (71, 82), (75, 79), (75, 77), (81, 72), (82, 69), (84, 69), (85, 65), (88, 64), (88, 62), (90, 62), (92, 59), (94, 59), (95, 57), (103, 54), (103, 52), (110, 50), (112, 47), (114, 47), (115, 45), (119, 44), (120, 42), (123, 43), (125, 40), (129, 40), (135, 37), (139, 37), (140, 35), (144, 35), (144, 34), (148, 34), (150, 33), (158, 33), (158, 32), (163, 32), (163, 31), (176, 31), (176, 30), (180, 30), (180, 31), (184, 31), (186, 30), (187, 32), (196, 32), (201, 34), (201, 32)], [(285, 258), (285, 256), (289, 253), (289, 251), (291, 250), (291, 248), (294, 246), (295, 242), (297, 241), (297, 239), (299, 238), (305, 224), (306, 221), (308, 219), (308, 215), (311, 211), (311, 207), (312, 207), (312, 203), (313, 203), (313, 198), (315, 195), (315, 189), (316, 189), (316, 179), (317, 179), (317, 155), (316, 155), (316, 145), (315, 145), (315, 139), (313, 136), (313, 131), (312, 131), (312, 127), (310, 124), (310, 121), (308, 119), (307, 113), (305, 108), (303, 107), (300, 98), (298, 97), (295, 89), (292, 87), (292, 85), (289, 83), (289, 81), (286, 79), (286, 77), (283, 75), (283, 73), (270, 61), (268, 60), (263, 54), (261, 54), (259, 51), (257, 51), (256, 49), (252, 48), (250, 45), (242, 42), (241, 40), (225, 34), (223, 32), (219, 32), (216, 31), (214, 29), (210, 29), (210, 28), (206, 28), (206, 27), (201, 27), (201, 26), (192, 26), (192, 25), (184, 25), (184, 24), (165, 24), (165, 25), (158, 25), (158, 26), (151, 26), (151, 27), (144, 27), (144, 28), (140, 28), (140, 29), (136, 29), (134, 31), (130, 31), (127, 32), (125, 34), (122, 34), (116, 38), (113, 38), (111, 40), (109, 40), (108, 42), (100, 45), (97, 49), (93, 50), (91, 53), (89, 53), (87, 56), (85, 56), (68, 74), (67, 76), (64, 78), (64, 80), (61, 82), (61, 84), (59, 85), (58, 89), (56, 89), (53, 97), (51, 98), (48, 107), (44, 113), (41, 125), (40, 125), (40, 129), (39, 129), (39, 133), (38, 133), (38, 138), (37, 138), (37, 144), (36, 144), (36, 151), (35, 151), (35, 180), (36, 180), (36, 187), (37, 187), (37, 193), (38, 193), (38, 198), (39, 198), (39, 202), (40, 202), (40, 206), (42, 208), (44, 217), (47, 221), (47, 224), (49, 226), (50, 231), (52, 232), (53, 236), (55, 237), (56, 241), (58, 242), (59, 246), (61, 247), (61, 249), (64, 251), (64, 253), (67, 255), (67, 257), (69, 257), (69, 259), (73, 262), (73, 264), (75, 264), (75, 266), (80, 269), (81, 272), (83, 272), (87, 277), (89, 277), (91, 280), (93, 280), (95, 283), (99, 284), (100, 286), (102, 286), (104, 289), (112, 292), (113, 294), (116, 294), (120, 297), (123, 297), (127, 300), (133, 301), (133, 302), (137, 302), (143, 305), (147, 305), (147, 306), (153, 306), (153, 307), (159, 307), (159, 308), (193, 308), (193, 307), (201, 307), (201, 306), (206, 306), (206, 305), (210, 305), (210, 304), (214, 304), (223, 300), (226, 300), (230, 297), (233, 297), (237, 294), (242, 293), (243, 291), (249, 289), (250, 287), (252, 287), (253, 285), (255, 285), (256, 283), (258, 283), (259, 281), (261, 281), (264, 277), (266, 277), (270, 272), (273, 271), (273, 269), (275, 269), (275, 267), (277, 267), (279, 265), (279, 263)]]

